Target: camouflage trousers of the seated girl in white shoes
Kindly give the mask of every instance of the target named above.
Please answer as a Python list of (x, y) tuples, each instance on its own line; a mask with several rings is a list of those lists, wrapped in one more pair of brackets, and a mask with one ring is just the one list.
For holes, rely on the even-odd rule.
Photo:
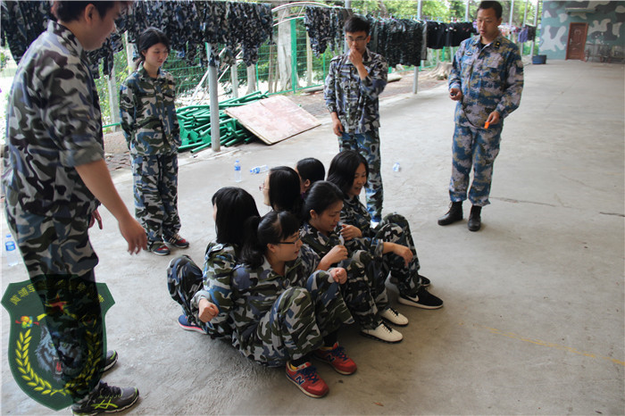
[[(363, 257), (367, 257), (363, 258)], [(352, 312), (354, 320), (362, 329), (375, 329), (381, 322), (378, 306), (371, 293), (370, 279), (366, 274), (363, 262), (371, 262), (371, 254), (359, 250), (351, 258), (337, 263), (347, 271), (347, 281), (341, 285), (341, 295)]]

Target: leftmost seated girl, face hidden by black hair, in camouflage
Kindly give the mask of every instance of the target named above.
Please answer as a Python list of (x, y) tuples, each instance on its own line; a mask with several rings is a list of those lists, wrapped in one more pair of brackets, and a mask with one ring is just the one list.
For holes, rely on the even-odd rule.
[[(167, 269), (171, 298), (182, 306), (178, 318), (182, 329), (230, 339), (232, 322), (229, 315), (219, 314), (211, 322), (203, 322), (198, 319), (199, 303), (201, 299), (211, 299), (209, 287), (219, 287), (221, 282), (229, 284), (241, 254), (244, 224), (247, 219), (258, 216), (254, 197), (240, 187), (222, 187), (212, 196), (212, 219), (217, 238), (206, 247), (204, 271), (187, 255), (173, 259)], [(216, 302), (223, 302), (219, 291), (214, 295), (217, 296)]]

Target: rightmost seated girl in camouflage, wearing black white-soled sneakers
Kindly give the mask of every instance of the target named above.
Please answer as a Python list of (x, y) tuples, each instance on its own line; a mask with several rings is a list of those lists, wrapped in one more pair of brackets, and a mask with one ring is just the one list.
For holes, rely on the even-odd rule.
[(419, 274), (419, 258), (412, 241), (410, 226), (404, 216), (391, 213), (375, 228), (371, 215), (360, 202), (362, 187), (367, 183), (369, 167), (361, 154), (346, 150), (330, 162), (328, 180), (343, 191), (341, 235), (346, 245), (368, 250), (379, 263), (379, 287), (384, 287), (388, 273), (396, 281), (399, 303), (423, 309), (437, 309), (443, 301), (426, 289), (429, 279)]

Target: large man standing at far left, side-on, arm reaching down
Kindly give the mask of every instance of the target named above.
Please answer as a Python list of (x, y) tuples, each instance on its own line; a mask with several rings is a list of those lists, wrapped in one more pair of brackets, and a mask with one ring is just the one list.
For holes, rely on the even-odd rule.
[(7, 112), (6, 219), (44, 304), (76, 414), (119, 412), (139, 395), (137, 388), (100, 381), (117, 354), (103, 349), (98, 259), (88, 237), (95, 221), (102, 229), (101, 202), (118, 220), (128, 251), (146, 248), (146, 231), (121, 201), (104, 162), (100, 104), (86, 54), (115, 29), (124, 3), (55, 2), (58, 21), (48, 23), (21, 59)]

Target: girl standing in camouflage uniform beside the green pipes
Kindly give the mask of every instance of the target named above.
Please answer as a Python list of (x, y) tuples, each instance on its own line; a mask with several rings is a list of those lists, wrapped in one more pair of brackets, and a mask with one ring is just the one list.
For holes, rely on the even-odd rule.
[(138, 50), (137, 69), (121, 86), (121, 129), (132, 158), (135, 215), (146, 228), (147, 248), (167, 255), (167, 245), (188, 247), (178, 234), (176, 89), (171, 74), (161, 68), (170, 53), (170, 41), (161, 30), (147, 28), (139, 36)]

